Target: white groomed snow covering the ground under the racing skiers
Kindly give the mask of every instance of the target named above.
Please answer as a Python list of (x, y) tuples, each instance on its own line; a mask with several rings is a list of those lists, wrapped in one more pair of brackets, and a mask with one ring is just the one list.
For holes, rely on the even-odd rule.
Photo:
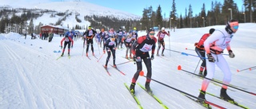
[[(202, 34), (208, 33), (210, 28), (222, 29), (225, 25), (214, 25), (205, 28), (176, 29), (170, 31), (170, 38), (165, 37), (166, 49), (172, 49), (183, 53), (196, 55), (193, 50), (194, 42), (198, 41)], [(255, 23), (239, 25), (239, 30), (234, 34), (231, 41), (231, 49), (235, 57), (233, 59), (225, 56), (233, 74), (230, 84), (234, 84), (244, 90), (256, 93), (255, 70), (237, 72), (237, 69), (250, 68), (255, 66), (256, 43)], [(168, 30), (168, 29), (167, 29)], [(138, 32), (139, 36), (145, 32)], [(59, 45), (61, 37), (54, 34), (52, 42), (40, 39), (30, 39), (30, 34), (24, 39), (17, 33), (0, 34), (0, 108), (105, 108), (105, 109), (134, 109), (138, 108), (134, 99), (127, 91), (124, 83), (130, 85), (131, 79), (136, 72), (136, 65), (133, 62), (118, 65), (123, 76), (114, 68), (108, 66), (111, 76), (108, 76), (102, 64), (106, 62), (106, 54), (102, 56), (102, 48), (94, 41), (94, 53), (101, 60), (89, 56), (82, 56), (82, 40), (74, 41), (74, 48), (71, 49), (71, 58), (67, 57), (67, 50), (62, 58), (56, 60), (61, 53), (54, 53), (54, 50), (61, 50)], [(169, 41), (170, 40), (170, 41)], [(42, 48), (42, 49), (40, 49)], [(187, 50), (186, 50), (187, 48)], [(86, 50), (85, 50), (86, 51)], [(90, 51), (90, 50), (89, 50)], [(127, 61), (126, 49), (118, 49), (116, 52), (116, 64)], [(227, 53), (226, 50), (224, 53)], [(152, 79), (167, 84), (172, 88), (185, 91), (191, 95), (198, 96), (198, 89), (201, 88), (202, 80), (186, 72), (178, 71), (178, 65), (182, 69), (194, 72), (198, 57), (184, 56), (181, 53), (165, 51), (165, 59), (155, 56), (152, 60)], [(109, 64), (113, 64), (110, 57)], [(199, 68), (197, 68), (196, 73)], [(146, 68), (143, 64), (143, 71), (146, 75)], [(223, 74), (216, 67), (214, 79), (222, 80)], [(140, 76), (138, 83), (144, 85), (145, 77)], [(154, 95), (162, 100), (162, 103), (169, 108), (199, 109), (204, 108), (194, 103), (178, 91), (167, 88), (162, 84), (151, 81), (150, 84)], [(210, 84), (207, 91), (219, 95), (220, 87)], [(256, 96), (234, 88), (228, 90), (228, 94), (238, 103), (256, 108)], [(135, 87), (138, 100), (145, 109), (159, 109), (161, 105), (150, 95)], [(206, 95), (206, 99), (221, 105), (222, 107), (239, 108), (222, 99)], [(215, 107), (213, 107), (215, 108)]]

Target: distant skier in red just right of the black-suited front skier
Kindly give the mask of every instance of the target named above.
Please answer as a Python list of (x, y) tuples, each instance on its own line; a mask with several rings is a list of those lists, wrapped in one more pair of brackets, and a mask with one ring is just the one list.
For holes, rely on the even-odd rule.
[[(157, 37), (158, 37), (158, 52), (162, 45), (162, 56), (164, 56), (163, 52), (165, 50), (165, 41), (163, 39), (166, 35), (170, 37), (170, 31), (168, 31), (168, 33), (166, 33), (166, 28), (162, 27), (161, 31), (159, 31), (158, 35), (157, 35)], [(158, 52), (157, 52), (157, 56), (159, 56)]]

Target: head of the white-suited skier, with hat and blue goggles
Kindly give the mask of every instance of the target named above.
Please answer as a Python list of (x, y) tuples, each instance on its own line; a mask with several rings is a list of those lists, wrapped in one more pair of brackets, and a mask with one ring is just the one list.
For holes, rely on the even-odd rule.
[(226, 32), (227, 33), (235, 33), (238, 29), (238, 20), (232, 19), (226, 23)]

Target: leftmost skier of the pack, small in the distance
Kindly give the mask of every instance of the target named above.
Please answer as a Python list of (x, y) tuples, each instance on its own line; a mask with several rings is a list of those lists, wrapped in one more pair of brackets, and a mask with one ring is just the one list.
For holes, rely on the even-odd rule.
[(66, 45), (67, 45), (67, 51), (68, 51), (68, 55), (70, 56), (70, 45), (71, 45), (71, 49), (73, 48), (73, 44), (74, 44), (74, 41), (72, 40), (72, 38), (71, 37), (69, 37), (68, 35), (66, 35), (65, 37), (63, 37), (62, 38), (62, 41), (61, 41), (61, 49), (62, 49), (62, 42), (63, 41), (65, 41), (64, 42), (64, 48), (63, 48), (63, 50), (62, 50), (62, 55), (61, 56), (63, 56), (63, 54), (64, 54), (64, 52), (65, 52), (65, 49), (66, 49)]

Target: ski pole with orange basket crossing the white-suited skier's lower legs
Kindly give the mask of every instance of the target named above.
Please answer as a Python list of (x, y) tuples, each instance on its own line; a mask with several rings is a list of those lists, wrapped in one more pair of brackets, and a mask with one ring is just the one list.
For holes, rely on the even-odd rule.
[[(188, 71), (182, 69), (182, 66), (181, 66), (181, 65), (178, 65), (178, 70), (182, 70), (183, 72), (188, 72)], [(188, 73), (191, 73), (191, 74), (194, 75), (194, 76), (199, 76), (199, 75), (197, 75), (197, 74), (194, 74), (193, 72), (188, 72)], [(202, 76), (199, 76), (199, 77), (202, 77)], [(209, 79), (209, 78), (206, 78), (206, 77), (203, 77), (203, 78), (206, 79), (206, 80), (214, 81), (215, 83), (218, 83), (218, 84), (226, 85), (226, 86), (228, 86), (228, 87), (230, 87), (230, 88), (234, 88), (234, 89), (237, 89), (237, 90), (239, 90), (239, 91), (244, 91), (244, 92), (249, 93), (249, 94), (251, 94), (251, 95), (256, 95), (256, 93), (254, 93), (254, 92), (245, 91), (245, 90), (242, 90), (242, 89), (240, 89), (240, 88), (235, 88), (234, 86), (231, 86), (231, 85), (228, 85), (228, 84), (223, 84), (222, 82), (217, 81), (217, 80), (212, 80), (212, 79)]]

